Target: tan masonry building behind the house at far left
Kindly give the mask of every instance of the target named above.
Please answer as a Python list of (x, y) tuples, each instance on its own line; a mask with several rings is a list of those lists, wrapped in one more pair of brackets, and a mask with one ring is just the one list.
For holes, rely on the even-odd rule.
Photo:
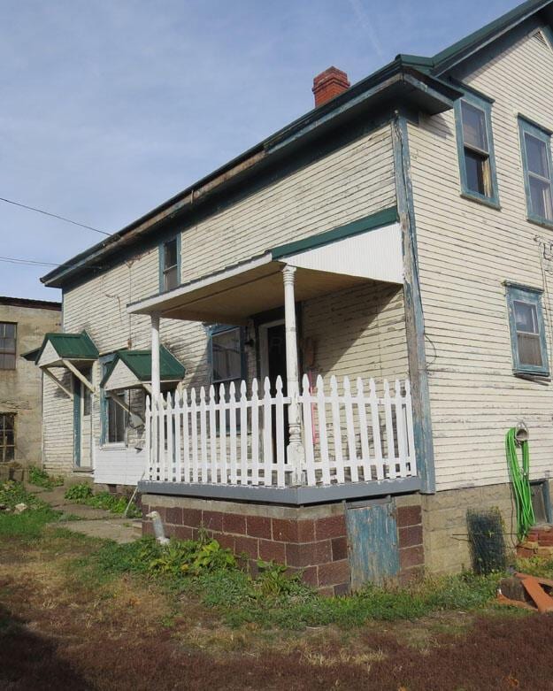
[(42, 372), (21, 356), (60, 328), (60, 303), (0, 296), (0, 464), (42, 462)]

